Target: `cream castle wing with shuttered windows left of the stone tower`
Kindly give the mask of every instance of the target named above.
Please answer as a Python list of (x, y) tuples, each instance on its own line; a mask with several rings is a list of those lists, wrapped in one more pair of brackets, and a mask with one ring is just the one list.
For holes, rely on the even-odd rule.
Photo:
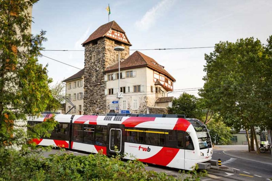
[[(83, 96), (84, 96), (84, 69), (63, 80), (66, 83), (66, 99), (65, 110), (68, 114), (83, 115)], [(70, 111), (69, 111), (70, 110)]]

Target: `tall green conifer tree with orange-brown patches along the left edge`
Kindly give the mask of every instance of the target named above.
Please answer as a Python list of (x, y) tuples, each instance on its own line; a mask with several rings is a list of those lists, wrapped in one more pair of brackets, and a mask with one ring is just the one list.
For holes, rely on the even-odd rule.
[[(25, 144), (30, 135), (20, 128), (25, 128), (26, 116), (38, 115), (52, 99), (51, 79), (46, 67), (38, 64), (45, 31), (30, 33), (28, 10), (34, 2), (0, 0), (0, 147)], [(35, 133), (46, 134), (55, 123), (41, 125), (33, 128)]]

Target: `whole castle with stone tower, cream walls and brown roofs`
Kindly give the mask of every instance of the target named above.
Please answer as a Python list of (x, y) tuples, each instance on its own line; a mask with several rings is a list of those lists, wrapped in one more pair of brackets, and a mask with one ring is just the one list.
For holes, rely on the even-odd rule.
[[(131, 43), (125, 31), (115, 21), (100, 26), (82, 45), (85, 48), (82, 81), (84, 89), (73, 88), (74, 82), (79, 80), (76, 74), (64, 80), (66, 95), (70, 94), (72, 101), (74, 94), (84, 91), (83, 100), (80, 100), (80, 104), (83, 105), (81, 108), (84, 109), (81, 113), (110, 112), (111, 102), (118, 100), (117, 92), (123, 93), (120, 110), (129, 110), (131, 113), (150, 113), (148, 107), (166, 108), (172, 105), (173, 97), (167, 97), (167, 93), (173, 91), (173, 83), (176, 80), (164, 66), (143, 53), (136, 51), (129, 56)], [(118, 90), (119, 57), (118, 52), (114, 50), (115, 46), (125, 48), (120, 52), (120, 90)], [(83, 80), (83, 76), (81, 79)], [(79, 103), (75, 105), (79, 106)], [(66, 104), (66, 112), (68, 110), (69, 105)], [(74, 113), (78, 113), (77, 108)]]

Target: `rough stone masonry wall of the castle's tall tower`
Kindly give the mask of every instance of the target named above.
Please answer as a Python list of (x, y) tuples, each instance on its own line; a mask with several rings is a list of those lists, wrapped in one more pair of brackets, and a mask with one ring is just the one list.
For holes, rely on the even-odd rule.
[[(104, 71), (108, 66), (118, 62), (115, 46), (118, 46), (115, 41), (107, 37), (98, 40), (97, 44), (85, 45), (84, 114), (105, 113)], [(124, 46), (125, 50), (120, 52), (120, 59), (125, 59), (129, 56), (129, 46), (124, 44), (121, 46)], [(93, 55), (95, 55), (94, 61)]]

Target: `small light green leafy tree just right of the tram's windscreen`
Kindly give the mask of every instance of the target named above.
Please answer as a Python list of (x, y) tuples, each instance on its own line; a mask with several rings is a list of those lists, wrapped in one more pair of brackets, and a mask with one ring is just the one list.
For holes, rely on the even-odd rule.
[(212, 142), (218, 144), (230, 144), (231, 143), (231, 128), (226, 126), (222, 121), (222, 118), (218, 115), (207, 124)]

